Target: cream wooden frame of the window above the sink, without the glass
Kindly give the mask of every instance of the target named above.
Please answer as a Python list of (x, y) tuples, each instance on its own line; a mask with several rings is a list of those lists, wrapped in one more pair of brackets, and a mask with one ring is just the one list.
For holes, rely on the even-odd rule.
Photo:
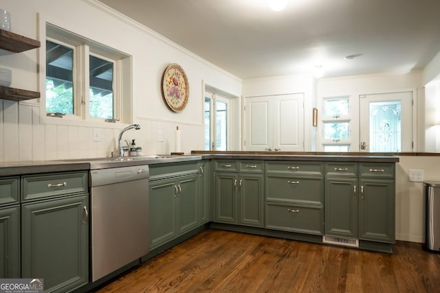
[[(40, 122), (67, 126), (121, 128), (133, 123), (132, 56), (41, 19), (39, 51)], [(74, 49), (74, 115), (49, 117), (46, 112), (46, 40)], [(113, 121), (89, 115), (89, 56), (113, 62)], [(124, 97), (122, 99), (122, 97)]]

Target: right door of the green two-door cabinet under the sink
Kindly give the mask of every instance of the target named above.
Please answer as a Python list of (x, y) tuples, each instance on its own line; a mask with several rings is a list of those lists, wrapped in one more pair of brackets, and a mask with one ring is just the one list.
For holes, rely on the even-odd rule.
[(199, 175), (186, 176), (177, 182), (177, 235), (184, 234), (199, 224)]

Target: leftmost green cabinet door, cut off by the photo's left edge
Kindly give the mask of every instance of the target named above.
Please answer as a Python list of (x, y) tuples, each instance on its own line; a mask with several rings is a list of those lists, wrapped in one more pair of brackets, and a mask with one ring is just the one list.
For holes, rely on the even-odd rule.
[(0, 278), (20, 277), (20, 207), (0, 209)]

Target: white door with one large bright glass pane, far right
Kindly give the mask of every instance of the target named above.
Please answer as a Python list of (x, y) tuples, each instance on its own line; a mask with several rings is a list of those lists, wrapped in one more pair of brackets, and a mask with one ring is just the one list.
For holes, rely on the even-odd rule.
[(360, 151), (412, 152), (412, 92), (360, 96)]

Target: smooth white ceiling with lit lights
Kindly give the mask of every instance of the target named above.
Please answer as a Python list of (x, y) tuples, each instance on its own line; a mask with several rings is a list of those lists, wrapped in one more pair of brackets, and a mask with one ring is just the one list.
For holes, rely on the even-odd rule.
[(406, 73), (440, 51), (439, 0), (99, 1), (243, 79)]

